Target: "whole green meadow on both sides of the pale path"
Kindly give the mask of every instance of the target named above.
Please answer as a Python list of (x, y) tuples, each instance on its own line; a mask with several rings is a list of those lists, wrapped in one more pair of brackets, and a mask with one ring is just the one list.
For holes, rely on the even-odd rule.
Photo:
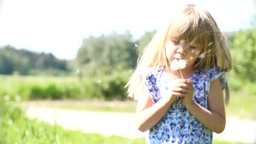
[[(125, 77), (119, 76), (88, 78), (83, 81), (78, 77), (0, 76), (0, 144), (144, 143), (144, 139), (66, 130), (37, 119), (28, 119), (25, 115), (26, 107), (35, 105), (89, 111), (135, 112), (136, 101), (122, 94), (125, 92), (125, 81)], [(235, 89), (241, 85), (243, 87)], [(231, 99), (226, 107), (227, 115), (256, 119), (255, 84), (241, 84), (231, 80), (230, 86)], [(117, 97), (110, 97), (115, 90), (118, 92)], [(214, 140), (213, 143), (232, 142)]]

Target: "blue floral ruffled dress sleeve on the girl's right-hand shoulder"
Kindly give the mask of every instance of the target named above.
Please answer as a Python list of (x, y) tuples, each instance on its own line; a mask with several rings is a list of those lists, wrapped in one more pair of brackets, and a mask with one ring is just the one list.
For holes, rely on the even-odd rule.
[(208, 83), (218, 78), (220, 80), (220, 84), (222, 85), (222, 90), (223, 90), (228, 85), (225, 71), (220, 71), (217, 67), (211, 68), (208, 71)]

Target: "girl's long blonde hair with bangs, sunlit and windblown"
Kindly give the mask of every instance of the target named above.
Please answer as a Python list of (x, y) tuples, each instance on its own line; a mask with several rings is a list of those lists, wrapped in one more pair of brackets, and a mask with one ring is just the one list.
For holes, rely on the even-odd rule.
[[(165, 44), (168, 40), (186, 40), (202, 46), (201, 55), (195, 63), (196, 69), (206, 69), (208, 72), (211, 67), (218, 67), (221, 71), (230, 71), (232, 68), (228, 40), (211, 14), (196, 5), (184, 5), (171, 15), (164, 29), (155, 34), (139, 56), (137, 68), (126, 85), (129, 87), (129, 97), (137, 100), (142, 94), (144, 83), (139, 75), (141, 68), (167, 68)], [(228, 104), (228, 86), (225, 91), (225, 103)]]

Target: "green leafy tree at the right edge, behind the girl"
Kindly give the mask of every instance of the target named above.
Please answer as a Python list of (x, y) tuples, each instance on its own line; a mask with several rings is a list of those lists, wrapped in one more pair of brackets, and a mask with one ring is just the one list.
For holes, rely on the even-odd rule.
[(235, 76), (243, 81), (255, 82), (256, 28), (238, 31), (232, 45)]

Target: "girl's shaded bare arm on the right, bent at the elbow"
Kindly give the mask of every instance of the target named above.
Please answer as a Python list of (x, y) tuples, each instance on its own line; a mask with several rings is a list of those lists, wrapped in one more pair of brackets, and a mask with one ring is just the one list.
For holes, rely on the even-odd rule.
[(225, 129), (226, 118), (222, 87), (219, 79), (211, 81), (210, 84), (210, 92), (208, 95), (209, 110), (192, 100), (188, 101), (183, 101), (183, 104), (192, 115), (194, 115), (208, 129), (218, 134), (222, 133)]

